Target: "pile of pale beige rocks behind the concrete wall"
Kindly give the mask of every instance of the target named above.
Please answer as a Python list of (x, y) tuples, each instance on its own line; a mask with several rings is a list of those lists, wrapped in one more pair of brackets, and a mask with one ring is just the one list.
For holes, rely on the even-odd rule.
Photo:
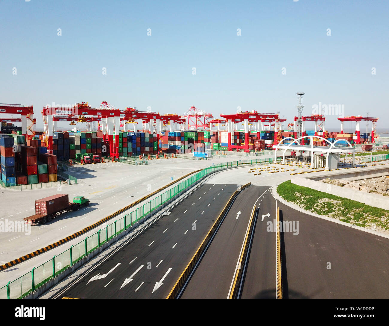
[(359, 190), (362, 193), (377, 193), (378, 195), (389, 195), (389, 177), (379, 177), (356, 181), (346, 181), (344, 179), (322, 179), (319, 182), (333, 184), (344, 188)]

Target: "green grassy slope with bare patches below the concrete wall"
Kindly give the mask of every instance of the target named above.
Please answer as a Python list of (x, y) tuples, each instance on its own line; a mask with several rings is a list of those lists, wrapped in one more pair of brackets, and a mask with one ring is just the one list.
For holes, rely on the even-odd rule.
[(371, 207), (354, 200), (322, 193), (286, 181), (277, 187), (279, 195), (301, 208), (316, 214), (366, 227), (370, 230), (389, 230), (389, 211)]

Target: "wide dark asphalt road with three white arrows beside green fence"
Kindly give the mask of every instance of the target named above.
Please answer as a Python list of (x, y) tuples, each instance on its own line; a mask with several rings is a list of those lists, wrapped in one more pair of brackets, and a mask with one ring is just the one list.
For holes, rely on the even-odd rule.
[(235, 185), (201, 185), (52, 298), (166, 298), (235, 190)]

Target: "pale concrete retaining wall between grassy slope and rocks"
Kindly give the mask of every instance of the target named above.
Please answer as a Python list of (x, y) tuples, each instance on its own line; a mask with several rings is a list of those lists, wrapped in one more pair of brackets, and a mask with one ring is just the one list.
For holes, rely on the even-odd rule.
[[(336, 177), (336, 179), (338, 178), (339, 177)], [(320, 179), (325, 179), (325, 177), (320, 177), (319, 180)], [(359, 190), (334, 186), (333, 184), (318, 182), (312, 179), (301, 178), (301, 177), (294, 177), (291, 179), (291, 182), (293, 184), (297, 184), (298, 186), (308, 187), (311, 189), (322, 191), (323, 193), (328, 193), (342, 198), (355, 200), (356, 202), (364, 203), (366, 205), (370, 205), (373, 207), (379, 207), (385, 210), (389, 210), (389, 197), (386, 196), (383, 197), (383, 196), (378, 196), (370, 193), (361, 194)]]

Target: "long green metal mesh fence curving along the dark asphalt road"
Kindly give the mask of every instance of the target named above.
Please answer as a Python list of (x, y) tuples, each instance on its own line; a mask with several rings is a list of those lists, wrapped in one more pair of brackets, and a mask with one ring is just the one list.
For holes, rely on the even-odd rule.
[(174, 188), (169, 189), (148, 203), (145, 203), (129, 214), (126, 214), (121, 219), (109, 224), (105, 227), (105, 229), (99, 230), (92, 236), (87, 237), (85, 240), (82, 240), (76, 245), (73, 245), (61, 254), (54, 256), (49, 261), (46, 261), (46, 263), (33, 268), (32, 271), (19, 277), (18, 279), (8, 282), (7, 285), (0, 288), (0, 300), (24, 298), (39, 287), (43, 286), (49, 280), (58, 276), (63, 271), (71, 268), (77, 261), (95, 251), (110, 239), (116, 237), (119, 233), (126, 231), (130, 226), (137, 223), (147, 214), (156, 211), (159, 206), (163, 205), (174, 196), (186, 191), (203, 177), (230, 168), (243, 167), (245, 165), (269, 164), (272, 162), (273, 158), (251, 159), (247, 161), (240, 160), (220, 163), (200, 170)]

